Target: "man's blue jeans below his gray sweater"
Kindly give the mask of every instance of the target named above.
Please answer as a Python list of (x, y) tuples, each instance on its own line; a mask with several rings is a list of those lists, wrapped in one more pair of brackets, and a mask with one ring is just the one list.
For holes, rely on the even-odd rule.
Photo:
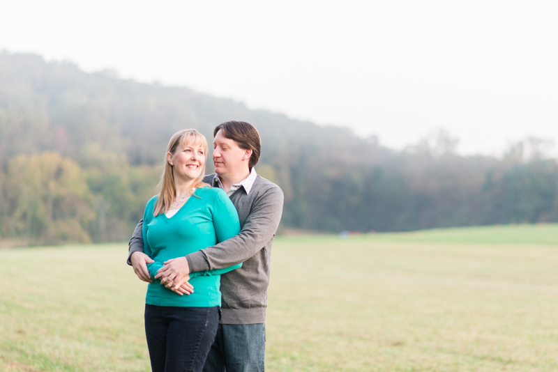
[(263, 372), (266, 325), (220, 324), (204, 372)]

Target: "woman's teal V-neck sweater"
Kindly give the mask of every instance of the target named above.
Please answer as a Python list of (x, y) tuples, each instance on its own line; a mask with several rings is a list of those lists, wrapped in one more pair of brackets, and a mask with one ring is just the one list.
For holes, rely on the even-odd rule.
[(191, 295), (178, 295), (155, 279), (157, 270), (170, 258), (186, 256), (240, 232), (239, 215), (222, 189), (196, 189), (190, 199), (170, 218), (153, 216), (158, 196), (145, 207), (143, 240), (144, 253), (155, 262), (147, 265), (153, 283), (147, 287), (145, 303), (175, 307), (214, 307), (221, 304), (220, 274), (241, 267), (241, 263), (221, 270), (190, 273)]

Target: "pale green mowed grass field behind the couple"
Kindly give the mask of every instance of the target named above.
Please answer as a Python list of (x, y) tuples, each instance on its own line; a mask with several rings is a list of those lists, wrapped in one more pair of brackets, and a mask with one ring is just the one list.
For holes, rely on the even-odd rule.
[[(0, 250), (0, 371), (149, 371), (126, 244)], [(558, 371), (558, 226), (278, 238), (268, 371)]]

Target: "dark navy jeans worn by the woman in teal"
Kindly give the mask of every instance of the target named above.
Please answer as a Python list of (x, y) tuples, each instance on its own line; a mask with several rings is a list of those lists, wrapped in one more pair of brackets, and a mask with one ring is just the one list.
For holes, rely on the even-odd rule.
[(202, 371), (219, 324), (219, 307), (145, 305), (153, 372)]

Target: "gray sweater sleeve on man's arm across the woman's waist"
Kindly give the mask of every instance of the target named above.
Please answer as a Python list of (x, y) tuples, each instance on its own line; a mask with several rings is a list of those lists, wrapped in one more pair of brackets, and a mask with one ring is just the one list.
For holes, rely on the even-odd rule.
[(254, 256), (275, 235), (281, 220), (283, 193), (277, 185), (262, 189), (239, 235), (188, 254), (190, 271), (227, 268)]

